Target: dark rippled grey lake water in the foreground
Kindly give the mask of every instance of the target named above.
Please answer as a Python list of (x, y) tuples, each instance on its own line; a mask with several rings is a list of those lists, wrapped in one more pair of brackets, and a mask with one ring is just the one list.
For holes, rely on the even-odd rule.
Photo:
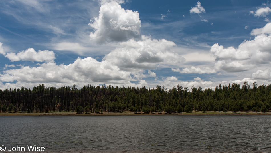
[(271, 152), (271, 116), (0, 116), (0, 145), (26, 152), (27, 145), (45, 152)]

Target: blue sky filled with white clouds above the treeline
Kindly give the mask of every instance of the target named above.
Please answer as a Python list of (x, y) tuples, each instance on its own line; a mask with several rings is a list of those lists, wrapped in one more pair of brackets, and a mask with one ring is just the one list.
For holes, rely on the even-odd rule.
[(0, 88), (271, 83), (266, 0), (2, 0)]

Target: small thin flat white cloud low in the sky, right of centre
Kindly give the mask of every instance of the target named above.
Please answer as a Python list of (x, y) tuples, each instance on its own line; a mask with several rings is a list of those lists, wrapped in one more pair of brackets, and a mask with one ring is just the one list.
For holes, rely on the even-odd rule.
[(203, 73), (210, 74), (210, 73), (217, 72), (215, 69), (211, 69), (209, 67), (200, 68), (200, 67), (194, 67), (194, 66), (192, 66), (191, 68), (186, 67), (186, 68), (183, 68), (182, 70), (180, 70), (179, 68), (178, 69), (172, 68), (171, 70), (173, 72), (179, 72), (179, 73), (198, 73), (198, 74), (203, 74)]

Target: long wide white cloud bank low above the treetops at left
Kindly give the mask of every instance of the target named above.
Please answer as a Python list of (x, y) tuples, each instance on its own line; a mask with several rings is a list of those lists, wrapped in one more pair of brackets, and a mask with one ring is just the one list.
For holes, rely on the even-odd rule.
[(31, 82), (31, 83), (66, 83), (98, 82), (112, 83), (126, 82), (131, 79), (129, 72), (120, 71), (118, 67), (106, 61), (96, 61), (91, 57), (76, 59), (69, 65), (56, 65), (56, 63), (43, 63), (38, 67), (21, 67), (3, 71), (0, 74), (2, 82)]

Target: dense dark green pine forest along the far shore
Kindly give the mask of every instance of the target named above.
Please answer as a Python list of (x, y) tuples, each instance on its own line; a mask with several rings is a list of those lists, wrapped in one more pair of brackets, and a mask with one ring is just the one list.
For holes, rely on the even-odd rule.
[(0, 89), (2, 112), (268, 112), (270, 102), (271, 85), (258, 86), (256, 82), (252, 88), (244, 82), (242, 87), (236, 83), (219, 84), (215, 90), (195, 86), (188, 90), (180, 85), (172, 89), (159, 85), (156, 88), (88, 85), (77, 89), (75, 84), (59, 88), (39, 84), (32, 90), (25, 87)]

